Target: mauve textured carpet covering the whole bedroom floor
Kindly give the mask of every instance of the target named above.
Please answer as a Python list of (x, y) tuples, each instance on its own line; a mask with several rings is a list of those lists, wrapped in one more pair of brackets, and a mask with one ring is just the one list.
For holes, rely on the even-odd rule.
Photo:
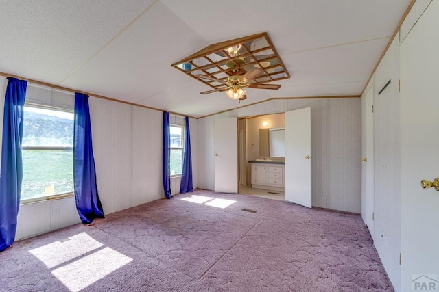
[(14, 243), (0, 291), (393, 289), (359, 215), (197, 189)]

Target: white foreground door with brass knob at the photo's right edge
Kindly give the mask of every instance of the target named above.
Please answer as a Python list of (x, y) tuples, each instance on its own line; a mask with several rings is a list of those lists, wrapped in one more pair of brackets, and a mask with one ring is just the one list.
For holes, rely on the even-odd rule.
[(431, 1), (400, 47), (401, 291), (439, 290), (439, 192), (420, 187), (439, 178), (438, 15)]

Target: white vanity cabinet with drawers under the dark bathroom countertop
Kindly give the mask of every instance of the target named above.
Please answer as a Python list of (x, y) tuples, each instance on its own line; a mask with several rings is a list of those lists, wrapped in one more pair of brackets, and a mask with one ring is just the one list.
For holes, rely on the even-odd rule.
[(278, 163), (252, 163), (252, 187), (285, 191), (285, 165)]

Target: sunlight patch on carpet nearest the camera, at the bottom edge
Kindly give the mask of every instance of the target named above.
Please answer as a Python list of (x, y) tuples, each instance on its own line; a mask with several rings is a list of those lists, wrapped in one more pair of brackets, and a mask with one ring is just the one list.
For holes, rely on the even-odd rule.
[(51, 274), (70, 291), (79, 291), (130, 263), (130, 261), (132, 258), (107, 247), (93, 252), (93, 254), (88, 254), (78, 261), (54, 269)]

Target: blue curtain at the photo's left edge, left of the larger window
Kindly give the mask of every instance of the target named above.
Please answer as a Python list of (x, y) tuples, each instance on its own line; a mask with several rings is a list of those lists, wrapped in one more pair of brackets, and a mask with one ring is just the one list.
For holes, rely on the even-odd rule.
[(16, 217), (19, 214), (23, 160), (23, 107), (27, 81), (8, 77), (0, 170), (0, 252), (14, 243)]

